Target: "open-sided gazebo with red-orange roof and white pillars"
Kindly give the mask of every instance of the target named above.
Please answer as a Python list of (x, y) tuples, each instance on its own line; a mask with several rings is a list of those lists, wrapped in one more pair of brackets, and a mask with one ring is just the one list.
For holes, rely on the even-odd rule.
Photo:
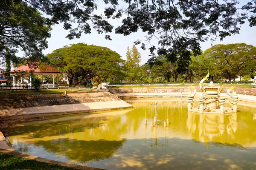
[[(38, 65), (36, 68), (33, 66), (30, 66), (28, 64), (21, 65), (18, 68), (15, 68), (14, 70), (10, 71), (11, 74), (13, 74), (13, 87), (15, 87), (15, 75), (21, 74), (21, 73), (30, 73), (29, 76), (29, 85), (31, 86), (31, 74), (35, 76), (41, 76), (43, 79), (43, 75), (52, 75), (53, 79), (53, 86), (55, 85), (55, 79), (54, 76), (57, 75), (57, 84), (58, 84), (58, 74), (61, 74), (60, 71), (57, 69), (51, 67), (50, 65)], [(21, 83), (22, 83), (22, 78), (21, 78)]]

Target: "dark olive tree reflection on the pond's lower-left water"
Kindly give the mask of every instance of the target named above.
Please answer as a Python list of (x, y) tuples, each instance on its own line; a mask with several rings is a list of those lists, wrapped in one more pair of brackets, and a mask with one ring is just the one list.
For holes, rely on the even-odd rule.
[(126, 142), (120, 141), (91, 140), (83, 141), (76, 139), (55, 139), (50, 141), (37, 141), (36, 145), (43, 146), (45, 150), (64, 154), (71, 160), (79, 160), (83, 163), (91, 163), (102, 159), (109, 159)]

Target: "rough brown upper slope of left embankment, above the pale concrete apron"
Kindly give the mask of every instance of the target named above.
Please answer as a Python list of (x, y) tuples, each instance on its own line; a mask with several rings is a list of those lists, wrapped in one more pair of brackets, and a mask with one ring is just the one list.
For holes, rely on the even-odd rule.
[(27, 108), (35, 106), (50, 106), (50, 105), (69, 105), (78, 103), (91, 102), (109, 102), (118, 101), (108, 92), (69, 92), (66, 97), (61, 93), (51, 94), (23, 94), (23, 95), (3, 95), (1, 96), (0, 110), (10, 108)]

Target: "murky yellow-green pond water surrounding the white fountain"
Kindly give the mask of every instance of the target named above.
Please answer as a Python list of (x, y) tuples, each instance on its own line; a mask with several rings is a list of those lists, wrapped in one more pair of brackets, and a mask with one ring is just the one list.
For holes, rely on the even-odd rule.
[[(109, 170), (256, 169), (255, 106), (209, 115), (188, 113), (187, 103), (174, 99), (126, 102), (135, 108), (20, 123), (7, 139), (21, 153)], [(158, 120), (168, 117), (167, 127), (150, 126), (155, 102), (163, 104)]]

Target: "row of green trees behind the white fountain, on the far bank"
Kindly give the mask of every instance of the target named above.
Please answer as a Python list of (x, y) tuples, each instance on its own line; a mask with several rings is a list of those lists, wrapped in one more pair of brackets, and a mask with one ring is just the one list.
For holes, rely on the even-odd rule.
[(143, 82), (140, 78), (143, 74), (144, 82), (200, 82), (208, 71), (209, 81), (231, 81), (238, 76), (248, 80), (256, 72), (256, 47), (245, 43), (214, 45), (201, 55), (191, 53), (187, 71), (183, 72), (178, 71), (178, 61), (170, 62), (165, 56), (156, 57), (156, 61), (152, 67), (145, 64), (128, 71), (128, 80)]

